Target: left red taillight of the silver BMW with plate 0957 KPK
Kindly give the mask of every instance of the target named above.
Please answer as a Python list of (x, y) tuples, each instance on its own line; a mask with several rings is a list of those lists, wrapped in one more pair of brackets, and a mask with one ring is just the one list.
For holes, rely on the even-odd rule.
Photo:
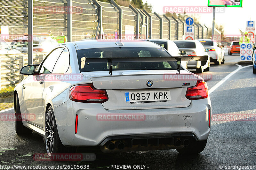
[(69, 99), (84, 103), (104, 103), (108, 100), (108, 94), (106, 90), (95, 89), (90, 83), (71, 87)]

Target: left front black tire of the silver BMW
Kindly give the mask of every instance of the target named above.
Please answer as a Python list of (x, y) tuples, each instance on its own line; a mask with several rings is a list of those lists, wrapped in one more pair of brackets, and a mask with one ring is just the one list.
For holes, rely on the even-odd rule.
[(33, 132), (33, 130), (28, 129), (22, 123), (18, 94), (16, 94), (16, 106), (15, 106), (15, 131), (18, 135), (29, 135)]

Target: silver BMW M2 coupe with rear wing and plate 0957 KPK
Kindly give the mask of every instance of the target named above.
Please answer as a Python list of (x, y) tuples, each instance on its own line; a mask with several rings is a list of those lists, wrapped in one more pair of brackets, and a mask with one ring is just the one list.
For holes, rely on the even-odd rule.
[(16, 132), (39, 133), (49, 156), (84, 146), (202, 152), (211, 101), (204, 80), (177, 64), (183, 58), (147, 41), (61, 44), (21, 68), (29, 76), (14, 89)]

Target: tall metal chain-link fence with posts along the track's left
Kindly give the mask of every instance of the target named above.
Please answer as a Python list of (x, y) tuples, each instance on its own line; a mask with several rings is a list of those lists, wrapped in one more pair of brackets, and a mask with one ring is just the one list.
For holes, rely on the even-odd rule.
[[(184, 38), (184, 21), (179, 18), (120, 6), (113, 0), (0, 0), (0, 6), (0, 26), (8, 26), (8, 33), (1, 32), (0, 89), (20, 82), (21, 66), (40, 63), (58, 43), (127, 39), (127, 34), (132, 39)], [(195, 39), (207, 38), (207, 31), (195, 24)]]

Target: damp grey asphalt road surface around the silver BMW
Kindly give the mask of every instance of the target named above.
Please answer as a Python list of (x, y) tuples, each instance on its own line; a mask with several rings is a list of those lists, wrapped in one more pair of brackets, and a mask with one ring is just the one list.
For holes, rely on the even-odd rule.
[[(235, 64), (238, 61), (239, 55), (226, 54), (225, 64), (211, 65), (210, 71), (202, 75), (206, 77), (208, 88), (211, 89), (236, 70), (238, 66)], [(213, 91), (210, 94), (213, 114), (211, 133), (204, 151), (194, 156), (184, 156), (176, 150), (115, 154), (97, 152), (95, 161), (35, 161), (32, 156), (34, 153), (46, 152), (43, 138), (36, 133), (28, 137), (18, 136), (14, 121), (0, 121), (0, 169), (6, 168), (3, 165), (89, 165), (90, 169), (113, 169), (111, 165), (145, 165), (145, 169), (185, 170), (256, 166), (254, 96), (256, 75), (252, 73), (252, 66), (239, 70)], [(14, 113), (14, 110), (5, 113)], [(241, 121), (238, 117), (234, 121), (230, 115), (246, 115), (250, 118)], [(78, 152), (84, 153), (84, 150), (80, 149)]]

